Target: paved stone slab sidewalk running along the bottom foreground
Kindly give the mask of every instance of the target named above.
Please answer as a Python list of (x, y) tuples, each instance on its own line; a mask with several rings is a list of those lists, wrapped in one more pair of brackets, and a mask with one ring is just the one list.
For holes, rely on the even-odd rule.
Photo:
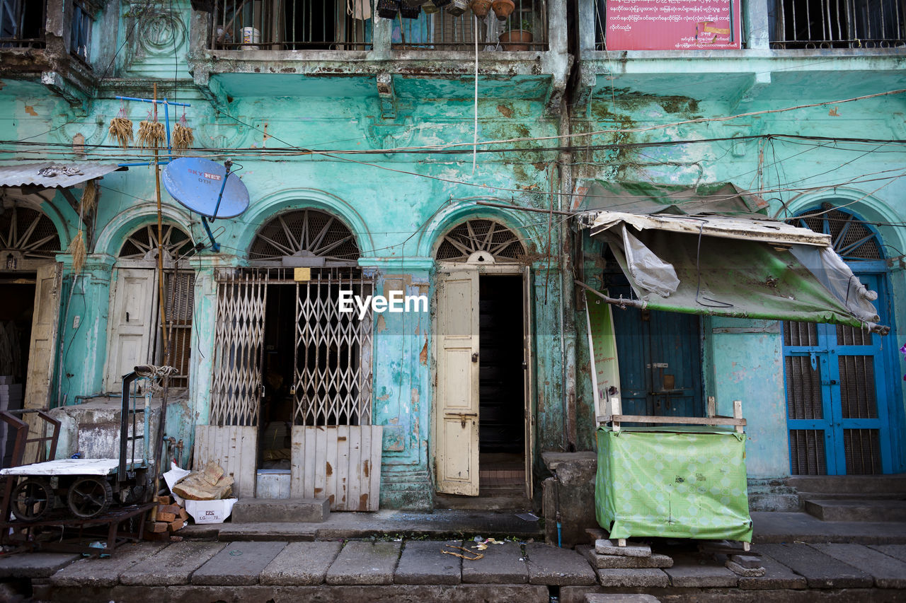
[[(593, 568), (585, 550), (467, 541), (183, 541), (126, 544), (109, 559), (54, 553), (0, 557), (0, 580), (31, 579), (34, 601), (510, 601), (584, 603), (591, 593), (670, 601), (906, 601), (906, 545), (766, 544), (766, 573), (740, 577), (723, 560), (685, 552), (672, 567)], [(657, 548), (657, 547), (656, 547)], [(478, 552), (475, 550), (475, 552)], [(796, 595), (800, 593), (800, 595)]]

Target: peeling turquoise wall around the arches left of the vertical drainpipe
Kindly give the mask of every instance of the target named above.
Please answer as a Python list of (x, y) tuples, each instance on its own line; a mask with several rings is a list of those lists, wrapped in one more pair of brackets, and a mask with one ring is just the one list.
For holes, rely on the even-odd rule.
[[(188, 28), (188, 2), (182, 7), (180, 28)], [(120, 43), (126, 41), (130, 15), (120, 14)], [(127, 45), (133, 49), (133, 45)], [(21, 149), (4, 156), (25, 160), (149, 160), (148, 151), (121, 152), (107, 132), (120, 110), (137, 128), (148, 119), (149, 105), (121, 102), (114, 94), (149, 97), (151, 82), (158, 81), (159, 97), (191, 103), (185, 110), (196, 144), (224, 148), (215, 158), (231, 158), (251, 196), (249, 210), (235, 219), (212, 225), (221, 245), (220, 254), (205, 249), (190, 260), (196, 271), (192, 362), (186, 410), (174, 406), (168, 416), (167, 435), (190, 445), (195, 425), (208, 421), (214, 331), (217, 306), (215, 273), (219, 267), (245, 265), (247, 249), (258, 228), (280, 212), (314, 207), (333, 213), (352, 228), (361, 248), (360, 264), (377, 278), (377, 291), (401, 289), (408, 294), (435, 294), (433, 253), (439, 236), (472, 217), (505, 223), (524, 238), (535, 260), (535, 381), (537, 450), (564, 447), (564, 375), (562, 334), (562, 279), (557, 256), (560, 242), (548, 237), (550, 215), (478, 207), (474, 201), (489, 199), (516, 206), (548, 207), (559, 204), (547, 195), (559, 189), (551, 181), (555, 151), (536, 152), (516, 143), (506, 155), (470, 153), (381, 154), (329, 157), (319, 154), (270, 154), (280, 148), (333, 148), (367, 150), (390, 147), (423, 147), (453, 142), (470, 143), (474, 128), (479, 139), (514, 139), (556, 135), (559, 124), (543, 117), (549, 76), (487, 78), (480, 82), (477, 124), (473, 119), (471, 79), (401, 78), (396, 81), (397, 117), (381, 117), (381, 103), (373, 76), (354, 78), (298, 78), (287, 83), (262, 79), (260, 74), (227, 73), (217, 76), (212, 88), (231, 98), (218, 112), (187, 80), (185, 39), (172, 48), (144, 48), (144, 53), (117, 56), (110, 82), (98, 98), (79, 108), (51, 96), (36, 83), (4, 81), (0, 89), (0, 139), (30, 139), (55, 143), (28, 155)], [(152, 52), (153, 51), (153, 52)], [(109, 60), (110, 57), (108, 57)], [(104, 63), (106, 66), (106, 62)], [(174, 68), (176, 71), (174, 72)], [(96, 66), (96, 69), (101, 69)], [(140, 79), (141, 78), (141, 79)], [(176, 81), (174, 88), (174, 79)], [(276, 82), (275, 88), (269, 88)], [(293, 96), (280, 96), (293, 94)], [(175, 109), (175, 110), (173, 110)], [(176, 119), (182, 109), (171, 108)], [(162, 111), (159, 118), (162, 119)], [(72, 137), (86, 139), (84, 157), (72, 155)], [(369, 165), (374, 164), (374, 165)], [(125, 237), (136, 228), (156, 223), (155, 184), (152, 168), (132, 167), (101, 180), (101, 198), (89, 256), (82, 275), (63, 304), (59, 340), (62, 364), (59, 397), (54, 404), (72, 404), (77, 396), (103, 389), (107, 356), (108, 313), (116, 282), (116, 256)], [(74, 191), (78, 197), (79, 189)], [(162, 193), (164, 220), (185, 229), (193, 239), (208, 244), (198, 222), (166, 191)], [(57, 196), (53, 207), (63, 215), (63, 249), (78, 230), (78, 217)], [(554, 221), (554, 226), (556, 221)], [(554, 256), (548, 262), (545, 254)], [(61, 260), (70, 262), (68, 254)], [(72, 282), (69, 268), (65, 278)], [(433, 303), (433, 302), (432, 302)], [(73, 317), (80, 326), (73, 328)], [(373, 422), (384, 427), (382, 507), (420, 507), (431, 504), (431, 405), (435, 359), (432, 312), (385, 313), (374, 325)]]

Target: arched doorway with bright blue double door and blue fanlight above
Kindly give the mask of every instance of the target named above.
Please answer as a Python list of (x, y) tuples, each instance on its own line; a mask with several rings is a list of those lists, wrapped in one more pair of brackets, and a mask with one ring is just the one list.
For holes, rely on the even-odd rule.
[[(881, 323), (891, 324), (888, 267), (872, 225), (831, 203), (789, 222), (831, 235), (834, 251), (878, 292)], [(790, 473), (892, 473), (896, 345), (867, 330), (813, 322), (787, 321), (783, 336)]]

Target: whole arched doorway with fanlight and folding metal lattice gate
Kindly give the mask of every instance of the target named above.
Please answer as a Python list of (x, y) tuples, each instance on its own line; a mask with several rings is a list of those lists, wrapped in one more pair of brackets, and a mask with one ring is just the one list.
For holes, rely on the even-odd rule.
[[(341, 218), (303, 208), (262, 225), (247, 269), (217, 275), (210, 436), (245, 442), (236, 491), (323, 498), (333, 511), (376, 511), (381, 428), (371, 426), (371, 309), (347, 312), (374, 283)], [(222, 439), (222, 437), (221, 437)], [(374, 467), (371, 470), (371, 467)], [(371, 495), (373, 493), (373, 496)]]

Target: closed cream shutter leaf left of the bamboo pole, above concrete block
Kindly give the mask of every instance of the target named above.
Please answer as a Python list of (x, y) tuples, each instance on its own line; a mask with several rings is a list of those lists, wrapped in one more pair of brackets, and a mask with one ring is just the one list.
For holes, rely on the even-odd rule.
[(153, 270), (142, 268), (117, 270), (107, 321), (107, 391), (120, 391), (122, 376), (137, 365), (154, 363), (151, 350), (158, 307), (155, 275)]

